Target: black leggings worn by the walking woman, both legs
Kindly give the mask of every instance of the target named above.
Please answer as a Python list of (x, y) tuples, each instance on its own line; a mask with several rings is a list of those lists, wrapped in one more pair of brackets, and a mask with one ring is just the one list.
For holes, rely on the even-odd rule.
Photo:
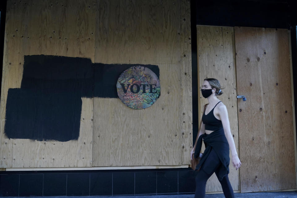
[[(201, 166), (200, 170), (198, 171), (198, 173), (196, 175), (195, 198), (204, 198), (206, 182), (213, 173), (216, 173), (216, 175), (218, 175), (220, 164), (221, 164), (221, 161), (220, 161), (219, 157), (217, 156), (217, 153), (213, 149), (211, 149), (209, 156), (204, 161), (203, 165)], [(212, 171), (210, 171), (210, 172), (204, 171), (204, 169), (203, 169), (204, 167), (208, 167), (205, 170), (212, 170)], [(209, 167), (211, 167), (211, 168), (209, 169)], [(226, 198), (234, 198), (233, 189), (230, 184), (228, 175), (223, 177), (222, 181), (219, 180), (219, 182), (222, 185), (222, 189), (223, 189), (225, 197)]]

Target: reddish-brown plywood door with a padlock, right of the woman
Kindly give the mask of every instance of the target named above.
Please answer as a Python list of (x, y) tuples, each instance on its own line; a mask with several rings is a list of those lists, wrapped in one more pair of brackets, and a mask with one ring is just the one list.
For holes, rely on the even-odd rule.
[(235, 27), (241, 192), (296, 188), (288, 32)]

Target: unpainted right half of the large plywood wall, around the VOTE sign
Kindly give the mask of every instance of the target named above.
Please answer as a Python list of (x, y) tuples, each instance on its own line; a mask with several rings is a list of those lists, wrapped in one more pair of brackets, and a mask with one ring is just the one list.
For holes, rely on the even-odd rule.
[[(181, 16), (187, 16), (184, 24)], [(187, 1), (98, 3), (95, 62), (157, 65), (161, 96), (142, 110), (94, 99), (93, 166), (189, 164), (192, 104), (185, 97), (192, 93), (185, 87), (192, 85), (191, 59), (189, 43), (181, 45), (190, 35), (189, 16)], [(189, 77), (182, 79), (185, 70)]]

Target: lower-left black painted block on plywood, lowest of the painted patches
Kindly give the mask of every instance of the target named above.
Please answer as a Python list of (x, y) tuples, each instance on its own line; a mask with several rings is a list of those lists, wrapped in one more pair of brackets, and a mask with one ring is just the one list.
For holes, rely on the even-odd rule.
[(77, 140), (81, 105), (81, 98), (70, 93), (47, 95), (26, 89), (9, 89), (5, 133), (8, 138), (18, 139)]

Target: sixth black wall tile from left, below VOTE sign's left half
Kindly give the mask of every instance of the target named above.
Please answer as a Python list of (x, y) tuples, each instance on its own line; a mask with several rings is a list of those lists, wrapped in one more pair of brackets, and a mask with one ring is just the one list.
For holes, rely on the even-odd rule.
[(134, 195), (135, 173), (113, 173), (113, 195)]

